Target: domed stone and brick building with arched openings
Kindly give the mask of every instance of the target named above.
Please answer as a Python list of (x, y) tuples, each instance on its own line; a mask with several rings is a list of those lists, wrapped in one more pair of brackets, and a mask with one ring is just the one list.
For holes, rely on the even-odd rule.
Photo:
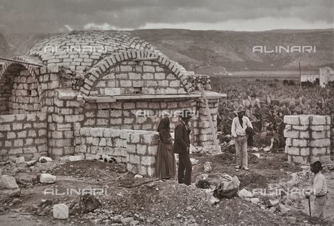
[[(157, 125), (171, 128), (193, 111), (193, 145), (214, 145), (202, 99), (216, 126), (218, 101), (209, 77), (186, 72), (129, 33), (72, 31), (40, 41), (0, 67), (1, 160), (24, 156), (104, 156), (154, 175)], [(215, 128), (216, 130), (216, 128)]]

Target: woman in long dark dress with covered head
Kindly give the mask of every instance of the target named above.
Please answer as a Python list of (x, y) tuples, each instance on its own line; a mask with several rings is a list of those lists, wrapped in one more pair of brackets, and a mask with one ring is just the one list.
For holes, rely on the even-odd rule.
[(176, 175), (175, 156), (173, 154), (173, 138), (170, 136), (169, 118), (163, 118), (158, 127), (159, 145), (157, 150), (157, 177), (173, 178)]

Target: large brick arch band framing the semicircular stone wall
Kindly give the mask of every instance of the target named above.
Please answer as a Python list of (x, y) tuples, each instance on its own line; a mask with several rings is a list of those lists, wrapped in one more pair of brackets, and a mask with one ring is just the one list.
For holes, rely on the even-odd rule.
[(167, 56), (164, 56), (161, 53), (144, 50), (120, 51), (116, 54), (112, 54), (111, 56), (102, 59), (87, 72), (88, 78), (85, 79), (84, 85), (81, 86), (80, 91), (82, 92), (82, 95), (88, 96), (95, 81), (97, 81), (97, 79), (99, 79), (100, 76), (102, 76), (102, 74), (104, 74), (104, 72), (106, 72), (106, 70), (108, 70), (110, 67), (113, 67), (114, 65), (124, 60), (154, 57), (158, 57), (157, 61), (162, 65), (165, 65), (170, 71), (172, 71), (177, 79), (180, 79), (186, 92), (193, 92), (194, 88), (192, 84), (189, 83), (187, 80), (189, 72), (186, 72), (182, 65), (170, 60)]

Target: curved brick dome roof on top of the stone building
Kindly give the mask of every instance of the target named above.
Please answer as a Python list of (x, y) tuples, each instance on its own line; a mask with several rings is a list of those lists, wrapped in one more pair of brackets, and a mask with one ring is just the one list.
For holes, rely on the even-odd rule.
[(84, 71), (120, 51), (164, 55), (157, 47), (129, 35), (118, 31), (72, 31), (38, 42), (25, 56), (37, 56), (45, 65), (70, 65), (72, 70)]

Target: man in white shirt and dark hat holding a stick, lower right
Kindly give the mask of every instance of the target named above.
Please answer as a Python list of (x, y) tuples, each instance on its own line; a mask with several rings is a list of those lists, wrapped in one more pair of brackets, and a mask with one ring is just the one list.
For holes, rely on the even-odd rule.
[[(313, 179), (313, 195), (315, 195), (315, 209), (312, 211), (312, 216), (317, 218), (325, 218), (325, 207), (327, 202), (327, 182), (325, 176), (320, 172), (322, 170), (321, 162), (316, 161), (311, 164), (311, 172), (315, 174)], [(312, 194), (305, 194), (306, 198), (309, 199)]]

